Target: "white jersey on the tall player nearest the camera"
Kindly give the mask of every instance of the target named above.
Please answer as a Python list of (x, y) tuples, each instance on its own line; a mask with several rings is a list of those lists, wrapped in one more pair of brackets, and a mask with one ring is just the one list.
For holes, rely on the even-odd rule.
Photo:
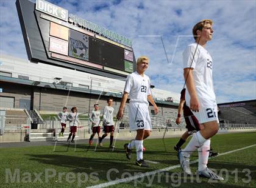
[[(193, 68), (194, 84), (199, 100), (206, 99), (208, 101), (215, 101), (216, 98), (212, 77), (212, 57), (200, 44), (198, 44), (197, 50), (196, 46), (197, 43), (190, 44), (183, 52), (183, 68)], [(194, 55), (195, 50), (196, 54)], [(189, 93), (188, 90), (186, 90), (186, 101), (190, 101), (189, 99)]]

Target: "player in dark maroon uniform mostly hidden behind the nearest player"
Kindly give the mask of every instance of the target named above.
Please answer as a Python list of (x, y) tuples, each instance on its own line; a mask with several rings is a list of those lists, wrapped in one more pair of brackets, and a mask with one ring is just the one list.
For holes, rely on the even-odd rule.
[[(192, 135), (194, 132), (197, 132), (201, 130), (200, 124), (196, 117), (194, 116), (193, 112), (191, 112), (190, 108), (187, 106), (186, 101), (185, 101), (185, 92), (186, 89), (182, 89), (180, 92), (180, 104), (178, 108), (178, 115), (176, 118), (176, 124), (179, 125), (181, 122), (181, 112), (183, 109), (183, 116), (186, 122), (186, 128), (188, 129), (183, 135), (181, 136), (179, 142), (174, 146), (174, 150), (179, 152), (181, 149), (180, 147), (185, 143), (187, 140), (188, 136)], [(212, 149), (210, 149), (209, 156), (217, 156), (217, 152), (213, 152)]]

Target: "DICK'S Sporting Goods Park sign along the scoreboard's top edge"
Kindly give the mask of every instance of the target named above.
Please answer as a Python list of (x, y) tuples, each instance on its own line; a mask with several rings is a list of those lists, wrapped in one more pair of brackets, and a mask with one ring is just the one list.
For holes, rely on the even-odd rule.
[(36, 10), (44, 12), (56, 18), (62, 19), (63, 21), (68, 21), (70, 24), (75, 24), (77, 25), (77, 27), (80, 27), (82, 29), (92, 30), (96, 33), (99, 33), (99, 35), (103, 35), (109, 39), (112, 39), (113, 41), (120, 42), (121, 44), (127, 45), (129, 47), (132, 46), (131, 39), (127, 39), (123, 35), (119, 35), (115, 32), (112, 32), (111, 30), (105, 29), (100, 25), (94, 24), (93, 22), (90, 22), (86, 19), (79, 18), (78, 16), (75, 16), (73, 14), (69, 14), (68, 16), (68, 10), (60, 8), (47, 1), (37, 0)]

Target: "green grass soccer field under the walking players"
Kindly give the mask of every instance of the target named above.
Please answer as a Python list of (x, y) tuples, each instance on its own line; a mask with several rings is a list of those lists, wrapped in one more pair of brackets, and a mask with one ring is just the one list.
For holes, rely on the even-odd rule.
[[(108, 149), (108, 140), (103, 147), (88, 149), (88, 144), (71, 144), (68, 152), (67, 143), (63, 146), (33, 146), (0, 149), (1, 187), (88, 187), (107, 183), (116, 178), (153, 170), (177, 166), (177, 153), (173, 146), (179, 138), (148, 139), (144, 141), (144, 158), (156, 163), (149, 163), (149, 168), (135, 166), (136, 153), (132, 159), (126, 159), (123, 145), (126, 141), (116, 141), (116, 149)], [(96, 139), (94, 139), (96, 141)], [(232, 133), (216, 135), (212, 147), (219, 153), (225, 153), (256, 144), (256, 133)], [(166, 146), (166, 147), (165, 147)], [(209, 160), (208, 167), (216, 169), (224, 181), (210, 181), (196, 175), (186, 177), (180, 167), (143, 176), (130, 182), (115, 184), (110, 187), (256, 187), (256, 146), (239, 150)], [(191, 161), (197, 158), (195, 152)], [(197, 163), (191, 164), (196, 172)]]

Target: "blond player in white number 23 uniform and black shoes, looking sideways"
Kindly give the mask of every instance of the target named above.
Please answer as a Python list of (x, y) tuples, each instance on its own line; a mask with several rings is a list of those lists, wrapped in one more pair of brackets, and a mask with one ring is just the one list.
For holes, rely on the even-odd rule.
[(154, 107), (155, 115), (158, 113), (157, 105), (151, 95), (149, 77), (144, 75), (148, 65), (149, 59), (146, 56), (137, 59), (137, 71), (126, 78), (126, 86), (117, 115), (118, 119), (123, 117), (124, 106), (129, 95), (129, 126), (130, 130), (137, 131), (137, 136), (129, 144), (124, 144), (124, 148), (126, 149), (127, 158), (130, 159), (132, 147), (136, 147), (136, 164), (141, 167), (148, 167), (143, 159), (143, 140), (148, 138), (152, 130), (148, 109), (149, 102)]

